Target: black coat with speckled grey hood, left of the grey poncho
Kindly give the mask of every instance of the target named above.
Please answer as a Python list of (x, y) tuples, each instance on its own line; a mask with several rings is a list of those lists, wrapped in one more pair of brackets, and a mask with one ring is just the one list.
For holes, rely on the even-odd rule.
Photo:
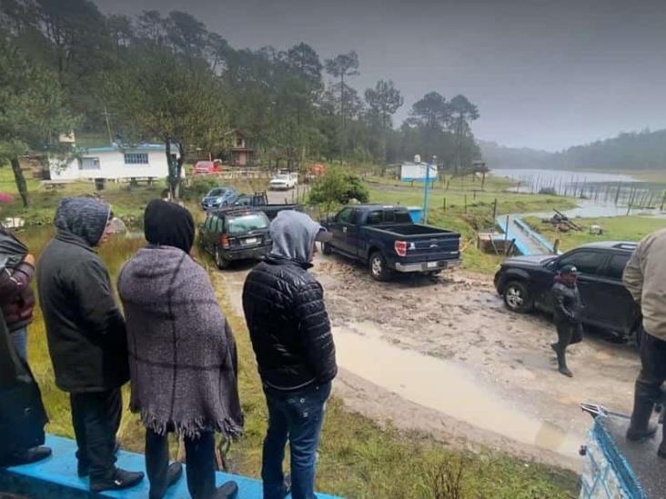
[(70, 393), (117, 388), (129, 378), (125, 321), (96, 246), (110, 208), (66, 197), (55, 212), (57, 233), (37, 264), (37, 291), (55, 384)]

